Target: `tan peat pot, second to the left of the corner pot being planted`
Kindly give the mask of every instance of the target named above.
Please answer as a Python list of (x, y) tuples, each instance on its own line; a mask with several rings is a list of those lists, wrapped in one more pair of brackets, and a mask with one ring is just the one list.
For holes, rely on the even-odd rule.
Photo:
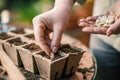
[(24, 41), (24, 39), (21, 37), (9, 39), (6, 41), (6, 43), (4, 43), (4, 48), (7, 55), (17, 66), (22, 65), (22, 61), (18, 53), (18, 48), (25, 44), (27, 44), (27, 42)]

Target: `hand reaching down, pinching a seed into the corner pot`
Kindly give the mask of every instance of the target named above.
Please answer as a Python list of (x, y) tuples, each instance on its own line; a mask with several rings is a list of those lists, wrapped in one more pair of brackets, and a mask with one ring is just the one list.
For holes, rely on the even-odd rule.
[(53, 9), (33, 18), (35, 39), (46, 54), (57, 52), (73, 4), (74, 0), (55, 0)]

